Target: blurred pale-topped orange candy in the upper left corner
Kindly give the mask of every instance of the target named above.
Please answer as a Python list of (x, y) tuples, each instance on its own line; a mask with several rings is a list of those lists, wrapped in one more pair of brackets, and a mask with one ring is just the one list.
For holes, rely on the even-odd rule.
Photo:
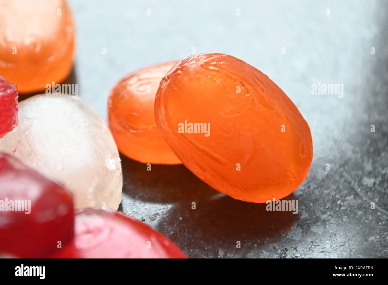
[(64, 0), (0, 1), (0, 74), (20, 93), (61, 83), (73, 55), (74, 24)]

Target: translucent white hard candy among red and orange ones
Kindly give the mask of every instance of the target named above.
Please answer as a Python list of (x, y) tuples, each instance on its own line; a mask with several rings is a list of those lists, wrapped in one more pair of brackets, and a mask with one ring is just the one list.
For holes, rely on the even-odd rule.
[(19, 104), (19, 126), (0, 151), (66, 185), (74, 206), (117, 209), (123, 185), (116, 144), (100, 116), (78, 98), (36, 95)]

